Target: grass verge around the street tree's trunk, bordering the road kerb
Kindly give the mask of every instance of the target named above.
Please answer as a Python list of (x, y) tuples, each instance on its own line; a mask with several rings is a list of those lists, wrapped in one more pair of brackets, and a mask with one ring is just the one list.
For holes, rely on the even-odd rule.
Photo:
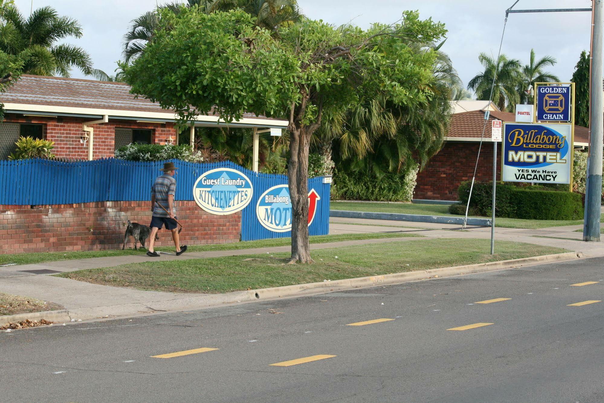
[(509, 241), (499, 241), (495, 255), (489, 251), (489, 240), (444, 238), (321, 249), (312, 252), (312, 264), (287, 264), (289, 254), (282, 253), (124, 264), (56, 276), (142, 290), (217, 293), (566, 252)]

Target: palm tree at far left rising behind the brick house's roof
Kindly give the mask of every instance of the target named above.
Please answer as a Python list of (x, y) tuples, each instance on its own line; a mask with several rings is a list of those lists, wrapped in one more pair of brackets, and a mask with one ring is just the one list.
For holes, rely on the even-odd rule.
[(25, 74), (69, 77), (74, 66), (90, 74), (92, 61), (85, 50), (56, 45), (68, 36), (81, 38), (82, 25), (76, 19), (59, 16), (52, 7), (38, 8), (27, 19), (14, 5), (0, 10), (0, 50), (24, 61)]

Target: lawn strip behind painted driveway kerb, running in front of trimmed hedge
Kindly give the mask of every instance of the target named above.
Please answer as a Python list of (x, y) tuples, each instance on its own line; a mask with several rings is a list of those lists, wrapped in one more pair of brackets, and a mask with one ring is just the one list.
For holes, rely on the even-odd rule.
[[(463, 217), (463, 215), (451, 214), (449, 212), (449, 206), (446, 205), (423, 205), (419, 203), (356, 203), (354, 201), (332, 201), (330, 203), (330, 208), (332, 210)], [(601, 221), (604, 222), (604, 214), (601, 217)], [(519, 218), (495, 218), (495, 226), (501, 228), (538, 229), (580, 224), (583, 224), (583, 220), (521, 220)]]

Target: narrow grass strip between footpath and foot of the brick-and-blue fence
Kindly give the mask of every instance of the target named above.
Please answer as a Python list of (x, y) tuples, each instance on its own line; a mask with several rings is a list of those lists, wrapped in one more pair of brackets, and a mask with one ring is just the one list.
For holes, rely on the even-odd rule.
[[(363, 239), (378, 239), (378, 238), (397, 238), (397, 237), (421, 237), (422, 235), (416, 234), (337, 234), (337, 235), (316, 235), (310, 237), (310, 243), (327, 243), (327, 242), (339, 242), (339, 241), (355, 241)], [(290, 238), (274, 238), (265, 239), (258, 241), (245, 241), (245, 242), (234, 242), (234, 243), (219, 243), (219, 244), (208, 244), (208, 245), (190, 245), (188, 252), (207, 252), (207, 251), (232, 251), (234, 249), (252, 249), (255, 247), (274, 247), (274, 246), (288, 246), (291, 244)], [(158, 251), (169, 252), (173, 251), (174, 248), (170, 247), (158, 247)], [(127, 256), (127, 255), (141, 255), (145, 254), (146, 249), (135, 251), (134, 249), (114, 249), (112, 251), (77, 251), (77, 252), (40, 252), (30, 254), (17, 254), (17, 255), (0, 255), (0, 264), (17, 263), (17, 264), (35, 264), (43, 263), (47, 261), (62, 261), (62, 260), (76, 260), (76, 259), (89, 259), (96, 257), (109, 257), (109, 256)]]

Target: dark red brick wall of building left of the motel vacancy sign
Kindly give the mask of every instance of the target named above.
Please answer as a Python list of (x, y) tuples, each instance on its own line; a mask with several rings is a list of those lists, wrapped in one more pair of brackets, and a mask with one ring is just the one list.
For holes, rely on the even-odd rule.
[[(478, 142), (446, 142), (443, 149), (417, 174), (413, 198), (429, 200), (457, 200), (457, 188), (464, 180), (472, 180)], [(501, 178), (501, 146), (498, 147), (497, 179)], [(493, 143), (483, 143), (476, 180), (493, 179)]]

